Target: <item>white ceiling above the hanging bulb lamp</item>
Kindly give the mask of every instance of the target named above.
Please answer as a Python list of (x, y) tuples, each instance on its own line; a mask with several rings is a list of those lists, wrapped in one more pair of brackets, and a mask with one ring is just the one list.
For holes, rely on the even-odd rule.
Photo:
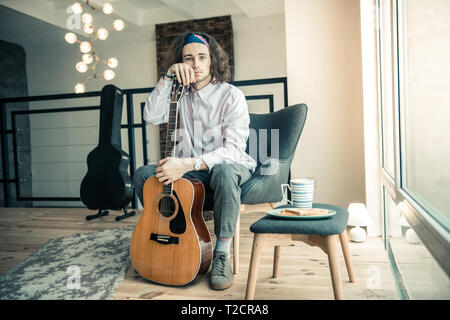
[[(21, 45), (64, 41), (64, 34), (70, 29), (67, 9), (76, 1), (0, 0), (0, 39)], [(94, 10), (94, 22), (108, 26), (114, 19), (123, 19), (126, 28), (118, 36), (120, 41), (152, 40), (154, 26), (160, 23), (224, 15), (261, 18), (284, 13), (284, 0), (89, 0), (97, 8), (105, 2), (114, 6), (114, 13), (106, 16)], [(81, 29), (72, 31), (85, 36)]]

